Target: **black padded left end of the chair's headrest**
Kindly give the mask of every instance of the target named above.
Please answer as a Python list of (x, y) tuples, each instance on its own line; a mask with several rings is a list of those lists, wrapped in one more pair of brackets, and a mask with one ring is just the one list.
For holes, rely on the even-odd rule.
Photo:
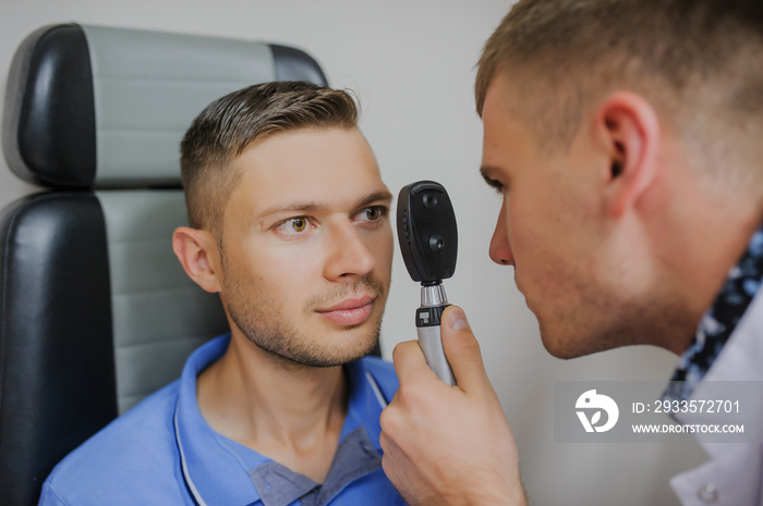
[(90, 59), (82, 28), (57, 25), (29, 35), (8, 78), (3, 150), (11, 170), (44, 186), (93, 185), (95, 127)]

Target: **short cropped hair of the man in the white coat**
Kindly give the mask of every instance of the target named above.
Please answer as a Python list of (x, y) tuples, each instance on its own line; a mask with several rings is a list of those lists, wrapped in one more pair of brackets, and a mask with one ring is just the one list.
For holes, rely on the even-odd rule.
[(519, 94), (514, 112), (554, 152), (569, 148), (588, 108), (628, 89), (686, 140), (722, 136), (720, 149), (760, 163), (762, 63), (760, 0), (521, 0), (485, 45), (476, 110), (502, 73)]

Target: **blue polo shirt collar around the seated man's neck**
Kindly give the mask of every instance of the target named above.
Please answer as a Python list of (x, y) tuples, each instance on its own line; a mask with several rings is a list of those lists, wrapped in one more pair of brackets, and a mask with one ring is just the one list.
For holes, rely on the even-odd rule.
[[(185, 485), (199, 506), (217, 504), (244, 506), (261, 498), (266, 506), (290, 504), (310, 492), (316, 484), (257, 452), (218, 434), (209, 427), (198, 409), (196, 377), (222, 357), (229, 342), (230, 334), (227, 334), (196, 349), (186, 361), (180, 379), (174, 424)], [(326, 480), (326, 485), (331, 482), (331, 489), (336, 489), (332, 493), (338, 493), (355, 478), (378, 468), (382, 462), (379, 416), (386, 406), (386, 399), (382, 396), (375, 379), (363, 360), (347, 363), (344, 372), (349, 387), (348, 412), (339, 436), (340, 446)], [(342, 445), (342, 443), (347, 444)], [(352, 458), (351, 455), (358, 452), (358, 448), (366, 454), (363, 464), (353, 472), (346, 473), (344, 480), (338, 480), (340, 485), (338, 486), (337, 477), (331, 477), (335, 466), (339, 470), (348, 469), (350, 466), (347, 459)], [(362, 472), (358, 474), (359, 471)], [(270, 479), (265, 479), (266, 477)], [(257, 488), (266, 488), (266, 483), (271, 483), (274, 478), (277, 482), (289, 483), (292, 492), (287, 495), (299, 495), (289, 502), (284, 502), (291, 498), (287, 496), (274, 501), (267, 490), (258, 491)], [(323, 492), (320, 495), (324, 495)], [(209, 498), (210, 503), (205, 503), (205, 498)]]

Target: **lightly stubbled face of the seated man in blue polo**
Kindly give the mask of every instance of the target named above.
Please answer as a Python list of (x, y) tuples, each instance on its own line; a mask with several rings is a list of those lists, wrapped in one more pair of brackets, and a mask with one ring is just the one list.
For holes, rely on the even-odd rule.
[[(235, 161), (223, 215), (220, 293), (238, 330), (307, 366), (376, 344), (389, 288), (389, 190), (358, 129), (267, 137)], [(238, 328), (238, 329), (237, 329)]]

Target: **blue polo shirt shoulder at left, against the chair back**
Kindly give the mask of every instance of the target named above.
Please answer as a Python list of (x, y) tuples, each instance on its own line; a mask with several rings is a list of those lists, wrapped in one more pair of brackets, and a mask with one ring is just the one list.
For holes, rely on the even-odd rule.
[(180, 497), (174, 477), (177, 398), (175, 382), (74, 449), (48, 477), (40, 505), (141, 504), (144, 495), (158, 504), (159, 497)]

